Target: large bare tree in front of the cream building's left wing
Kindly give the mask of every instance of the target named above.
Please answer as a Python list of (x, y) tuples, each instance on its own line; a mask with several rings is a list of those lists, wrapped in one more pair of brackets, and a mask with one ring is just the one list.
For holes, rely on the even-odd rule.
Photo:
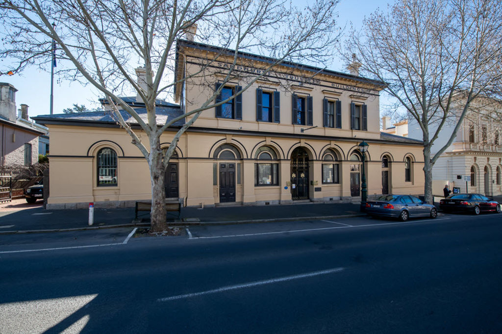
[[(2, 0), (0, 15), (6, 27), (0, 55), (10, 60), (0, 75), (21, 71), (26, 66), (46, 68), (50, 63), (51, 40), (58, 48), (61, 76), (87, 82), (105, 95), (117, 122), (132, 137), (148, 161), (152, 184), (151, 229), (164, 229), (166, 215), (164, 170), (180, 136), (203, 110), (214, 108), (241, 94), (254, 81), (285, 61), (323, 61), (331, 56), (337, 41), (335, 6), (338, 0), (315, 0), (302, 9), (285, 0)], [(53, 23), (55, 25), (53, 26)], [(198, 27), (197, 39), (234, 51), (220, 52), (195, 73), (174, 75), (176, 42), (187, 30)], [(267, 61), (261, 74), (248, 78), (240, 92), (215, 102), (220, 90), (180, 117), (159, 124), (156, 99), (172, 94), (183, 81), (213, 76), (207, 68), (226, 57), (223, 84), (239, 77), (239, 52), (255, 52)], [(4, 63), (5, 64), (5, 63)], [(60, 64), (64, 64), (61, 68)], [(142, 65), (144, 85), (134, 80), (134, 69)], [(214, 78), (207, 78), (207, 82)], [(124, 103), (119, 94), (133, 87), (145, 102), (146, 119)], [(148, 136), (148, 142), (124, 121), (119, 108), (129, 113)], [(187, 118), (188, 117), (188, 118)], [(165, 156), (160, 136), (175, 122), (187, 118), (175, 134)]]

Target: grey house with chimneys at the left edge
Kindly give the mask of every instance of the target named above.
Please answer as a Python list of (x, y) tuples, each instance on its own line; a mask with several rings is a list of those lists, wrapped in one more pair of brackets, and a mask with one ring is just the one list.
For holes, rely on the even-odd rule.
[(16, 113), (17, 89), (0, 83), (0, 166), (29, 166), (38, 162), (39, 138), (48, 129), (28, 119), (28, 105)]

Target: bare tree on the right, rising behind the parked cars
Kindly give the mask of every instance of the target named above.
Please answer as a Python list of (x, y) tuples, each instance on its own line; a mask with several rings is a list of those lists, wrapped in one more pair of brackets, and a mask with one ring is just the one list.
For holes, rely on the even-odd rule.
[[(342, 52), (386, 91), (423, 133), (425, 200), (432, 203), (432, 167), (453, 142), (473, 101), (499, 94), (502, 7), (492, 0), (398, 0), (352, 30)], [(431, 156), (443, 125), (447, 143)]]

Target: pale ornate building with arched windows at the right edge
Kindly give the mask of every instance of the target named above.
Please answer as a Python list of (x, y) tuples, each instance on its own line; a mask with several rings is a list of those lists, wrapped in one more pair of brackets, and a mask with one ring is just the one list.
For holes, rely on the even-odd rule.
[[(483, 104), (483, 105), (481, 105)], [(468, 111), (460, 124), (453, 143), (438, 158), (432, 169), (433, 191), (442, 194), (444, 184), (460, 188), (460, 192), (488, 196), (502, 194), (502, 123), (500, 104), (479, 100)], [(458, 118), (453, 117), (439, 132), (431, 149), (435, 154), (449, 140)], [(437, 126), (430, 126), (431, 135)], [(410, 137), (422, 138), (422, 130), (415, 120), (410, 121)]]

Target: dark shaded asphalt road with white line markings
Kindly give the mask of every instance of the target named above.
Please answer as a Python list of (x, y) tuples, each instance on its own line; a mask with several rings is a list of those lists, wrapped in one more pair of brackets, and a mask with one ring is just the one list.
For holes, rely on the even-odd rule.
[(2, 236), (0, 332), (499, 333), (501, 218)]

